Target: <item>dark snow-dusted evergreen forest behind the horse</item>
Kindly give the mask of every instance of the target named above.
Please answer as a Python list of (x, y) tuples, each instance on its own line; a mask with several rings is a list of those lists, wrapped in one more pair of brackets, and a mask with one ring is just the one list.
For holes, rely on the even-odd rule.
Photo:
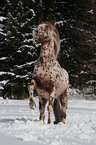
[(0, 1), (0, 96), (28, 98), (40, 54), (40, 44), (32, 37), (39, 18), (56, 20), (61, 41), (57, 59), (69, 73), (70, 88), (96, 99), (95, 0)]

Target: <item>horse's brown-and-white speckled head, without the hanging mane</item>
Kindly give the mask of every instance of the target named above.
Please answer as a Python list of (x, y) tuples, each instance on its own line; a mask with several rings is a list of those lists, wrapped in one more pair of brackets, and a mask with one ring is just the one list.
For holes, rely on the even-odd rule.
[(56, 28), (54, 24), (55, 22), (41, 22), (38, 27), (33, 30), (33, 38), (40, 43), (49, 42), (50, 39), (52, 39), (54, 28)]

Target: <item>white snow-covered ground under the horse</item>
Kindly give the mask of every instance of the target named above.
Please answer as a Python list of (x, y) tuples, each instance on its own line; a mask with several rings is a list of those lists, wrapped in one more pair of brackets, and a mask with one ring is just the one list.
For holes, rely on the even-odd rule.
[[(69, 99), (66, 124), (39, 121), (28, 100), (0, 98), (0, 145), (96, 145), (96, 101)], [(52, 116), (52, 120), (54, 117)]]

